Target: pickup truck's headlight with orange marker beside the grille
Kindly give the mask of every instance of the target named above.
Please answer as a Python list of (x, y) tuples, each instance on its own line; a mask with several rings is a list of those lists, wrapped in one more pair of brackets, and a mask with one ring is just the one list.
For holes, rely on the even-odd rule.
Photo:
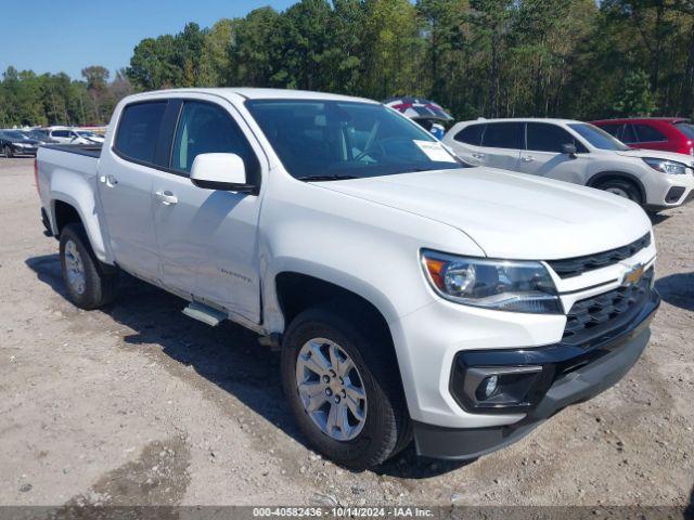
[(498, 311), (563, 313), (556, 287), (540, 262), (424, 250), (422, 264), (434, 289), (448, 300)]

